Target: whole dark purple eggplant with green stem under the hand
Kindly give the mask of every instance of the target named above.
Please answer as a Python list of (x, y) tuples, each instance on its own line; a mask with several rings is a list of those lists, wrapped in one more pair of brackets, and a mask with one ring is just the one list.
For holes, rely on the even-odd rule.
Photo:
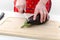
[[(34, 16), (34, 15), (33, 15)], [(46, 17), (45, 22), (41, 23), (40, 22), (40, 14), (37, 15), (36, 20), (33, 20), (33, 16), (29, 17), (28, 20), (26, 20), (26, 22), (24, 23), (23, 27), (30, 27), (32, 25), (41, 25), (41, 24), (45, 24), (48, 21), (48, 18)]]

